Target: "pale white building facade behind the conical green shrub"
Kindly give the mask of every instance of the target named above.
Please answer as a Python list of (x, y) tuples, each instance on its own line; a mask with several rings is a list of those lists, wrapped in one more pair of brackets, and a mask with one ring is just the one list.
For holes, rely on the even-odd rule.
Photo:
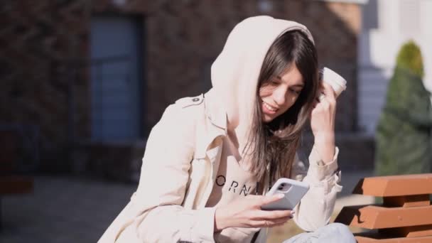
[(399, 48), (413, 40), (421, 48), (425, 77), (432, 91), (432, 1), (369, 0), (363, 6), (359, 38), (359, 130), (373, 136), (396, 65)]

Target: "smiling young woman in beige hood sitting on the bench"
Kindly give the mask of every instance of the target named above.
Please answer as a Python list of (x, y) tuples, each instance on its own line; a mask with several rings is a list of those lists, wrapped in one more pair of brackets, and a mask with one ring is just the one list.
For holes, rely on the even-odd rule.
[[(336, 101), (318, 81), (308, 29), (245, 19), (212, 65), (212, 86), (166, 109), (148, 137), (136, 193), (99, 242), (265, 242), (267, 228), (291, 218), (311, 233), (288, 242), (355, 242), (342, 225), (324, 227), (342, 188)], [(308, 121), (315, 144), (306, 170), (296, 151)], [(261, 210), (279, 200), (265, 193), (280, 177), (310, 190), (295, 210)]]

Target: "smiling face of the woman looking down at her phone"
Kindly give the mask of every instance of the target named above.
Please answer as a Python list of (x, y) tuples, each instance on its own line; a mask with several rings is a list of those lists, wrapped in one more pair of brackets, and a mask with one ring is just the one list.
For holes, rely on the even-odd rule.
[(271, 77), (259, 87), (262, 121), (269, 123), (284, 114), (297, 100), (304, 82), (296, 65), (284, 74)]

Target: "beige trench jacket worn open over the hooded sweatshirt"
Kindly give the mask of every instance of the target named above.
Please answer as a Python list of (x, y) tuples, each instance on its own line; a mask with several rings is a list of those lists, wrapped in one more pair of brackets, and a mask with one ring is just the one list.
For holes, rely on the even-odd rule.
[[(215, 208), (205, 203), (215, 183), (227, 122), (224, 110), (210, 102), (211, 95), (179, 99), (166, 109), (148, 137), (139, 187), (99, 243), (214, 242)], [(294, 163), (291, 178), (306, 175), (303, 180), (311, 186), (294, 217), (307, 231), (330, 220), (342, 189), (337, 184), (340, 173), (335, 173), (337, 156), (338, 149), (335, 161), (320, 166), (313, 150), (307, 174), (301, 161)], [(258, 242), (265, 237), (261, 230)]]

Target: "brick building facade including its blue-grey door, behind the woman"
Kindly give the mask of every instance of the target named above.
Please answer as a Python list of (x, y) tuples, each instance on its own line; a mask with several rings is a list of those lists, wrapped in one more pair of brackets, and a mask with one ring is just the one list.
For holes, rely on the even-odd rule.
[(211, 87), (235, 24), (261, 14), (310, 28), (320, 65), (348, 82), (338, 133), (358, 131), (356, 1), (8, 1), (1, 12), (0, 128), (38, 134), (38, 167), (134, 160), (168, 104)]

